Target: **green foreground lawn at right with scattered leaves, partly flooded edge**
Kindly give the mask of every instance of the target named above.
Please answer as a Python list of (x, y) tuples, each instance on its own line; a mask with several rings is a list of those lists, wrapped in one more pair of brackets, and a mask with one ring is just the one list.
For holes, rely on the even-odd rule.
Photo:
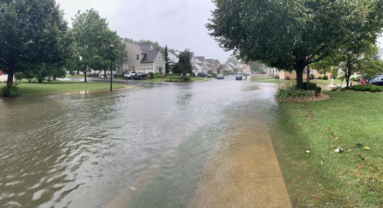
[(273, 144), (293, 206), (382, 207), (383, 94), (325, 93), (330, 100), (278, 104)]

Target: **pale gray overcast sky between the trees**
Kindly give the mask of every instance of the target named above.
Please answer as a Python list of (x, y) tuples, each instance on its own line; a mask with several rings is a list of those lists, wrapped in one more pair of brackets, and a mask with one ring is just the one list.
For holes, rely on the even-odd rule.
[[(231, 55), (222, 50), (205, 28), (210, 0), (56, 0), (71, 22), (78, 10), (95, 9), (106, 17), (109, 28), (120, 37), (158, 41), (161, 46), (195, 52), (196, 56), (225, 62)], [(70, 24), (71, 26), (71, 24)]]

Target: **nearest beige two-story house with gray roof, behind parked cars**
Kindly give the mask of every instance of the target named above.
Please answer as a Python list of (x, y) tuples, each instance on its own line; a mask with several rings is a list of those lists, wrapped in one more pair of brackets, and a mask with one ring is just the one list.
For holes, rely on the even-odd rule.
[(152, 43), (137, 44), (126, 42), (128, 60), (124, 64), (125, 68), (133, 72), (165, 72), (165, 58), (161, 50), (156, 50)]

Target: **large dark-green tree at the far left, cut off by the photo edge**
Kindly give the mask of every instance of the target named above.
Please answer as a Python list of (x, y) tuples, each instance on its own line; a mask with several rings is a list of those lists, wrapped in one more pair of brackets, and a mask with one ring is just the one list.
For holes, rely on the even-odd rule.
[(11, 88), (17, 72), (67, 58), (67, 22), (55, 0), (0, 2), (0, 68)]

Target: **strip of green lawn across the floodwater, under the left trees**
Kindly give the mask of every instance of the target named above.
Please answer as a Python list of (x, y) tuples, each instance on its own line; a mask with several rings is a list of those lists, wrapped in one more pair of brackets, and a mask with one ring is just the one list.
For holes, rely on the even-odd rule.
[[(5, 86), (5, 83), (0, 86)], [(79, 91), (92, 91), (92, 90), (107, 90), (110, 88), (109, 83), (103, 82), (69, 82), (69, 81), (53, 81), (51, 83), (29, 83), (21, 82), (17, 91), (18, 96), (41, 96), (41, 95), (55, 95), (63, 93), (75, 93)], [(124, 85), (113, 84), (113, 88), (124, 88)]]

